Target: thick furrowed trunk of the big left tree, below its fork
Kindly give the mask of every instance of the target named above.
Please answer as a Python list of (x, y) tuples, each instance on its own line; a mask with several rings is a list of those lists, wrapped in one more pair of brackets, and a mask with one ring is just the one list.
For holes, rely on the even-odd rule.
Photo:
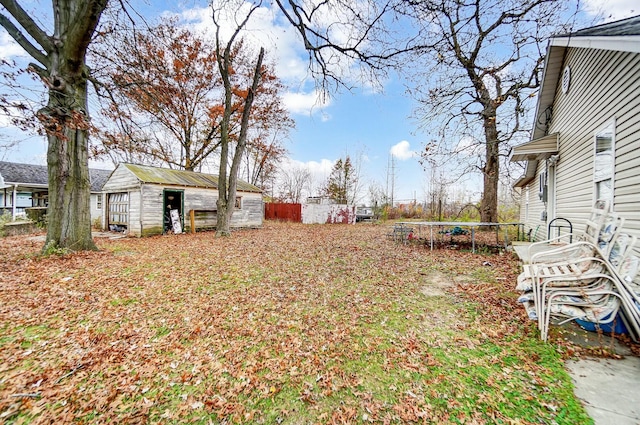
[(49, 141), (45, 252), (52, 248), (97, 249), (91, 237), (87, 71), (84, 64), (74, 68), (69, 69), (63, 59), (52, 66), (49, 102), (40, 111)]

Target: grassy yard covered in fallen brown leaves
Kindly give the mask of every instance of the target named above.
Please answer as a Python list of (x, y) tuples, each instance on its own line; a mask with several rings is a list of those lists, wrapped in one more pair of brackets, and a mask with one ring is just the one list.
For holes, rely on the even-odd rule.
[(591, 423), (510, 255), (386, 232), (268, 222), (62, 257), (5, 238), (0, 422)]

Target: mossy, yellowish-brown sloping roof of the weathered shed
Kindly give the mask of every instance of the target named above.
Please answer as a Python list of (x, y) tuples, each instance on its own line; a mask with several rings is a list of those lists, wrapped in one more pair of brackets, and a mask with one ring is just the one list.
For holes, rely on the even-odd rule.
[[(213, 174), (151, 167), (149, 165), (123, 163), (121, 166), (126, 167), (143, 183), (202, 187), (210, 189), (218, 188), (218, 176)], [(239, 179), (237, 189), (241, 192), (262, 192), (260, 188)]]

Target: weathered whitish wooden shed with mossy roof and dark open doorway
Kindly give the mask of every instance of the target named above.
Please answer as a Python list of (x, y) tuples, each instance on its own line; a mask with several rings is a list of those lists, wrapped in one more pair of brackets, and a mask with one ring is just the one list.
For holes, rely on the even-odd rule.
[[(121, 163), (102, 190), (110, 230), (149, 236), (173, 231), (175, 222), (191, 230), (192, 210), (196, 229), (217, 223), (218, 177), (211, 174)], [(231, 227), (260, 227), (263, 215), (262, 191), (239, 180)]]

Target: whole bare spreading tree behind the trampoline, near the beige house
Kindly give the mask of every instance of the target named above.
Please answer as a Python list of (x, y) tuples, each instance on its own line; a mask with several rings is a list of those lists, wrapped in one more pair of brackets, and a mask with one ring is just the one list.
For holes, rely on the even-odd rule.
[[(421, 26), (423, 49), (412, 68), (424, 127), (441, 144), (424, 157), (466, 155), (484, 178), (481, 220), (498, 219), (500, 159), (523, 125), (540, 85), (545, 43), (559, 29), (568, 2), (556, 0), (434, 0), (406, 2)], [(423, 70), (423, 72), (421, 71)], [(474, 161), (475, 159), (475, 161)]]

